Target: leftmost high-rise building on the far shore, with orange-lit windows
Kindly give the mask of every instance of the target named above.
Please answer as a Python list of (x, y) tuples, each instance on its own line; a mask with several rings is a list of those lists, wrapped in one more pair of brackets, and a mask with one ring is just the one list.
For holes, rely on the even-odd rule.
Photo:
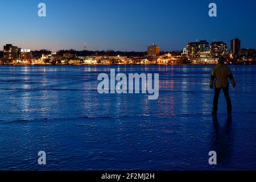
[(18, 59), (18, 47), (12, 44), (6, 44), (3, 46), (3, 63), (12, 64)]

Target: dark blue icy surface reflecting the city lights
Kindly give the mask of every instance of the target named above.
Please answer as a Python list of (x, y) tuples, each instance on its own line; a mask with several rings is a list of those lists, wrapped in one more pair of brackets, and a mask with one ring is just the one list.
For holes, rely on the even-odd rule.
[[(159, 99), (98, 94), (97, 76), (159, 73)], [(231, 66), (234, 114), (223, 94), (210, 116), (212, 66), (0, 67), (0, 169), (255, 169), (256, 67)], [(37, 163), (47, 152), (47, 166)], [(208, 164), (216, 150), (218, 166)]]

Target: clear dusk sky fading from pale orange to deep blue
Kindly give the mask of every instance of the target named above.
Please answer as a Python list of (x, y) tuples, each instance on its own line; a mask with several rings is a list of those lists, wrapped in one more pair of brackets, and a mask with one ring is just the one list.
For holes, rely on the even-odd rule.
[[(46, 3), (47, 16), (38, 16)], [(208, 16), (209, 3), (217, 17)], [(161, 50), (181, 50), (188, 42), (240, 38), (256, 48), (255, 0), (13, 0), (1, 1), (0, 46), (27, 49), (146, 51), (153, 41)], [(230, 47), (230, 46), (229, 46)]]

